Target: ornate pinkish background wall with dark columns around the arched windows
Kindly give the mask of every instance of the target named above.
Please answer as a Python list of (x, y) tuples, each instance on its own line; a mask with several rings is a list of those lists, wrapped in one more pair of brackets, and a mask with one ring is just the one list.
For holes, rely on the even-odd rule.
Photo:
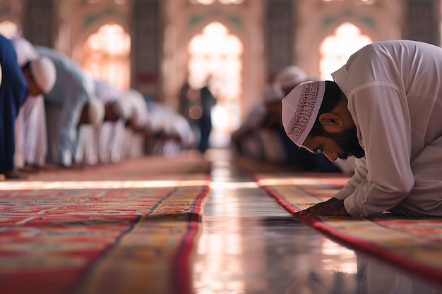
[[(356, 2), (359, 1), (357, 4)], [(262, 99), (267, 78), (288, 64), (319, 74), (318, 47), (344, 22), (373, 41), (417, 39), (440, 45), (440, 0), (245, 0), (194, 5), (189, 0), (1, 0), (0, 22), (23, 27), (27, 39), (80, 59), (82, 45), (112, 21), (131, 34), (131, 83), (176, 105), (186, 79), (187, 45), (217, 20), (244, 45), (242, 116)]]

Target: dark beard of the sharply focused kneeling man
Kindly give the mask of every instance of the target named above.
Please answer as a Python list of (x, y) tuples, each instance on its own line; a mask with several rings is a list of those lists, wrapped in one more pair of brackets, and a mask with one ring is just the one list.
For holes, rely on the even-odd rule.
[(342, 149), (342, 153), (338, 155), (340, 159), (347, 159), (348, 154), (353, 154), (356, 158), (362, 158), (365, 156), (365, 151), (357, 140), (357, 129), (356, 127), (350, 128), (348, 130), (343, 130), (340, 133), (327, 133), (325, 132), (325, 137), (330, 138), (335, 141), (336, 144)]

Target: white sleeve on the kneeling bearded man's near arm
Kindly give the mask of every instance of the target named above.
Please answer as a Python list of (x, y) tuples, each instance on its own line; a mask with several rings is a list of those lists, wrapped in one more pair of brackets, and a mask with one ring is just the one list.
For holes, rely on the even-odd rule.
[[(405, 94), (393, 84), (376, 84), (362, 86), (349, 99), (349, 110), (366, 152), (365, 161), (359, 161), (355, 170), (359, 185), (351, 185), (354, 192), (344, 200), (345, 209), (352, 216), (369, 216), (391, 209), (414, 186)], [(357, 184), (357, 180), (349, 183)]]

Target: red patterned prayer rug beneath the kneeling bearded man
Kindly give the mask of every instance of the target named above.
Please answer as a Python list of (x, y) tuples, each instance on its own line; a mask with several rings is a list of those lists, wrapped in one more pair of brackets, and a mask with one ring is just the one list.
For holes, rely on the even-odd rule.
[[(327, 173), (255, 173), (254, 177), (292, 214), (338, 192), (348, 176)], [(379, 216), (301, 216), (301, 221), (352, 250), (377, 257), (442, 285), (442, 219)]]

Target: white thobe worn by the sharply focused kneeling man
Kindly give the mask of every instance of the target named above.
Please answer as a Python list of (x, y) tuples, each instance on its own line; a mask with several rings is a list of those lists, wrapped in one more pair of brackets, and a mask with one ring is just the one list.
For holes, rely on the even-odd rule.
[(336, 198), (352, 216), (442, 216), (442, 49), (369, 44), (332, 74), (366, 156)]

